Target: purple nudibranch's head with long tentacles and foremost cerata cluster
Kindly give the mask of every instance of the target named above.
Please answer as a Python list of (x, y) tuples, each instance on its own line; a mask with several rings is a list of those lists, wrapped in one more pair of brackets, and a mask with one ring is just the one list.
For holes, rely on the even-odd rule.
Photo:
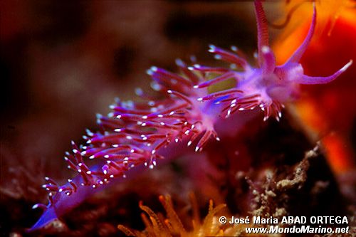
[(260, 107), (265, 113), (264, 120), (271, 116), (279, 120), (283, 103), (295, 98), (299, 91), (299, 85), (329, 83), (344, 72), (352, 64), (352, 60), (336, 73), (327, 77), (311, 77), (304, 74), (303, 65), (299, 63), (299, 60), (308, 48), (315, 30), (316, 10), (314, 4), (313, 19), (305, 40), (286, 63), (276, 65), (276, 57), (268, 43), (267, 21), (261, 1), (255, 1), (255, 10), (258, 33), (258, 67), (254, 68), (248, 65), (248, 62), (238, 55), (236, 47), (231, 48), (232, 51), (235, 51), (231, 52), (210, 46), (209, 52), (215, 53), (215, 58), (231, 63), (233, 65), (231, 68), (236, 68), (237, 65), (243, 71), (234, 69), (206, 70), (206, 67), (195, 66), (194, 70), (220, 73), (220, 75), (196, 85), (194, 88), (206, 88), (222, 80), (234, 78), (236, 80), (235, 88), (206, 95), (203, 100), (214, 99), (223, 103), (225, 107), (221, 112), (225, 112), (226, 117), (239, 110), (254, 110), (256, 107)]

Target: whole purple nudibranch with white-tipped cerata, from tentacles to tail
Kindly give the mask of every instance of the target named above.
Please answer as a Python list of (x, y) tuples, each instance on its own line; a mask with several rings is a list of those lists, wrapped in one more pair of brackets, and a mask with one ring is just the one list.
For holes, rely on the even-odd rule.
[[(30, 231), (43, 228), (55, 218), (78, 206), (87, 196), (105, 188), (114, 181), (134, 177), (143, 169), (152, 169), (157, 162), (178, 157), (183, 152), (199, 152), (209, 139), (224, 137), (224, 126), (241, 127), (246, 114), (264, 112), (264, 120), (279, 120), (283, 104), (293, 100), (300, 84), (329, 83), (351, 64), (344, 65), (328, 77), (304, 75), (298, 63), (315, 28), (316, 11), (305, 41), (283, 65), (269, 47), (266, 16), (261, 1), (255, 1), (258, 33), (256, 67), (240, 56), (236, 47), (226, 51), (210, 46), (209, 52), (229, 67), (186, 65), (177, 60), (181, 74), (152, 67), (147, 74), (152, 78), (152, 88), (162, 95), (153, 98), (137, 90), (145, 102), (117, 100), (110, 106), (112, 112), (98, 115), (98, 132), (87, 131), (85, 145), (72, 142), (72, 152), (64, 158), (68, 168), (77, 176), (67, 184), (58, 185), (50, 178), (43, 188), (49, 191), (47, 206), (36, 204), (44, 213)], [(208, 80), (208, 78), (213, 78)], [(209, 93), (211, 85), (223, 80), (236, 81), (234, 88)], [(245, 112), (241, 112), (245, 110)], [(234, 116), (232, 116), (234, 115)], [(229, 122), (226, 122), (229, 117)], [(248, 116), (247, 116), (248, 117)], [(234, 130), (229, 129), (229, 132)], [(194, 144), (194, 146), (191, 146)], [(164, 158), (164, 159), (163, 159)], [(89, 164), (95, 164), (92, 167)]]

